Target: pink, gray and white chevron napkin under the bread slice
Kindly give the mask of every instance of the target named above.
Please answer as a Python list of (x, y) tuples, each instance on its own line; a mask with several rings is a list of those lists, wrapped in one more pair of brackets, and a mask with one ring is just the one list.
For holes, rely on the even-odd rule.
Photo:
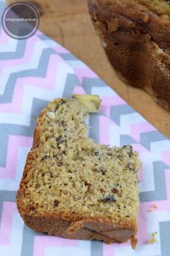
[[(4, 5), (0, 2), (0, 9)], [(15, 197), (32, 146), (35, 116), (72, 93), (94, 93), (102, 111), (89, 116), (89, 136), (140, 153), (138, 247), (37, 234), (24, 226)], [(170, 142), (66, 48), (37, 31), (9, 37), (0, 27), (0, 256), (169, 256)], [(157, 232), (157, 242), (148, 244)]]

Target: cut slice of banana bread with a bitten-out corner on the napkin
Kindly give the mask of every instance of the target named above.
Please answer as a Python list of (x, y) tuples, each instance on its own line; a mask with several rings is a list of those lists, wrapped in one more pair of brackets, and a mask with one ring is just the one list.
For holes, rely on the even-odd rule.
[(91, 140), (84, 122), (99, 109), (97, 95), (48, 104), (37, 118), (17, 192), (24, 223), (71, 239), (125, 242), (138, 229), (138, 153)]

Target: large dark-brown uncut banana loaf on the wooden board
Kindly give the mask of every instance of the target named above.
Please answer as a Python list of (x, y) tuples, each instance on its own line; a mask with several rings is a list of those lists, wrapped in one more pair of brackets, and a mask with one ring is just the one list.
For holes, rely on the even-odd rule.
[(170, 110), (170, 1), (88, 0), (117, 74)]

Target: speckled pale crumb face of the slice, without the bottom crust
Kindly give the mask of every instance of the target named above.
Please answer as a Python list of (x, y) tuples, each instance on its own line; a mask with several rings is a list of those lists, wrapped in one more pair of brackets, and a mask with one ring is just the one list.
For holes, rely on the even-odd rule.
[(91, 140), (88, 111), (82, 98), (58, 98), (37, 118), (17, 195), (22, 214), (138, 218), (138, 153)]

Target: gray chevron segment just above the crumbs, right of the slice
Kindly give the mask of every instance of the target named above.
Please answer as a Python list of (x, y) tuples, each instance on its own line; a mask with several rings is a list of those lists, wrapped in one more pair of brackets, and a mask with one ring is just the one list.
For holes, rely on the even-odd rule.
[(156, 200), (166, 200), (166, 179), (164, 170), (169, 168), (164, 162), (156, 161), (153, 162), (153, 173), (155, 190), (140, 192), (140, 202), (151, 202)]

